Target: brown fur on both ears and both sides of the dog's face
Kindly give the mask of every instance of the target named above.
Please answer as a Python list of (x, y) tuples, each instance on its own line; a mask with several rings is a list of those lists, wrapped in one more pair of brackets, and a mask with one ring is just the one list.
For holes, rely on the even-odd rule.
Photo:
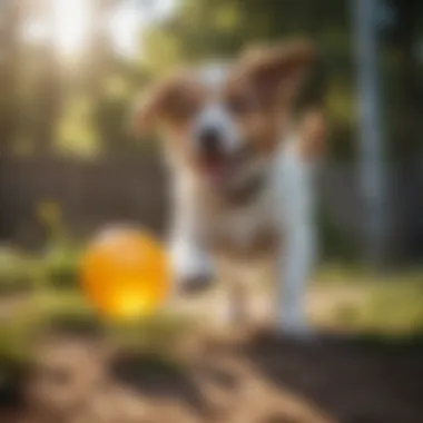
[(255, 48), (235, 61), (217, 92), (207, 90), (195, 71), (185, 69), (147, 92), (137, 109), (136, 128), (159, 127), (167, 148), (197, 170), (200, 166), (190, 142), (193, 121), (206, 102), (218, 101), (226, 107), (239, 142), (245, 144), (250, 156), (269, 156), (284, 131), (292, 129), (293, 99), (314, 57), (306, 41)]

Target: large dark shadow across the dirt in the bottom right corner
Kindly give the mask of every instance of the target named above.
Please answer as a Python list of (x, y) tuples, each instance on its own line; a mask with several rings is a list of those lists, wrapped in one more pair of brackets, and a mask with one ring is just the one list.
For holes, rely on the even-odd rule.
[(240, 353), (274, 386), (306, 397), (335, 421), (423, 422), (423, 333), (322, 334), (304, 343), (262, 332)]

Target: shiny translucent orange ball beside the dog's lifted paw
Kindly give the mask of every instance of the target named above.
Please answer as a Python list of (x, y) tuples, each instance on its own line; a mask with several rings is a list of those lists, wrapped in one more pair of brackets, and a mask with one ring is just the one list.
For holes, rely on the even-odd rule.
[(126, 319), (153, 314), (166, 301), (169, 282), (164, 248), (141, 230), (108, 229), (82, 256), (82, 288), (107, 317)]

